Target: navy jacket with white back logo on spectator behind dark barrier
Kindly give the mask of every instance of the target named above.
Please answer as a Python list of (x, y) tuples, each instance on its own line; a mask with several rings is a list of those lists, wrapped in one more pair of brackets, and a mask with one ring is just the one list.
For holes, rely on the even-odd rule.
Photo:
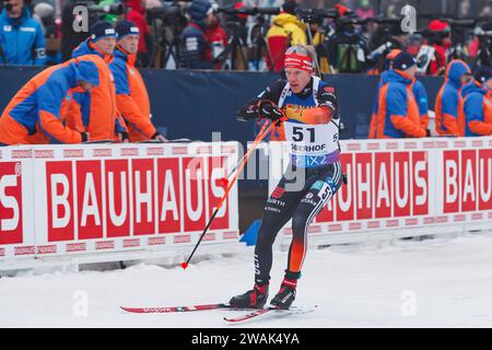
[(183, 62), (181, 66), (189, 69), (212, 69), (207, 60), (208, 42), (203, 30), (191, 22), (183, 31)]

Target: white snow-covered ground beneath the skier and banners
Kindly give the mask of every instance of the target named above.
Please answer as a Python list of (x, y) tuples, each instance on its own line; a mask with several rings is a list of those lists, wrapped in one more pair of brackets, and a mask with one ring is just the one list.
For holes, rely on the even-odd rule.
[[(0, 327), (231, 327), (208, 311), (127, 314), (125, 306), (227, 301), (253, 285), (253, 250), (191, 265), (125, 270), (19, 272), (0, 279)], [(271, 294), (286, 253), (277, 253)], [(297, 305), (305, 315), (245, 327), (492, 327), (492, 234), (311, 249)], [(86, 313), (85, 313), (86, 311)]]

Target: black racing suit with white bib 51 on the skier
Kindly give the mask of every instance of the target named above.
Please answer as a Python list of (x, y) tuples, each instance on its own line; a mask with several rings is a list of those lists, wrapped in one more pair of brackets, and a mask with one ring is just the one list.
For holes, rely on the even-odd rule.
[[(328, 143), (327, 145), (335, 151), (315, 155), (303, 155), (300, 152), (291, 154), (291, 164), (263, 209), (255, 248), (255, 281), (258, 284), (268, 283), (270, 280), (272, 245), (278, 232), (290, 219), (292, 219), (293, 237), (289, 250), (285, 278), (291, 280), (300, 278), (307, 248), (307, 228), (340, 188), (343, 177), (338, 144), (340, 116), (332, 88), (319, 80), (315, 83), (312, 79), (301, 93), (295, 94), (290, 90), (286, 81), (279, 80), (267, 88), (257, 98), (241, 108), (237, 112), (237, 118), (244, 120), (257, 116), (261, 117), (258, 103), (265, 100), (274, 102), (289, 118), (283, 126), (285, 130), (291, 129), (293, 132), (285, 132), (286, 141), (300, 141), (302, 138), (313, 141), (313, 143), (308, 141), (306, 141), (307, 143), (292, 142), (293, 150), (311, 150), (309, 147), (323, 149), (323, 143)], [(295, 112), (300, 109), (306, 112), (309, 108), (312, 108), (311, 110), (318, 108), (316, 110), (319, 110), (319, 107), (316, 107), (317, 105), (327, 107), (325, 110), (330, 115), (329, 121), (321, 120), (325, 122), (320, 122), (316, 119), (318, 117), (309, 119), (308, 116), (304, 118), (295, 115)], [(292, 125), (289, 125), (289, 122)], [(318, 132), (316, 127), (320, 128), (321, 139), (326, 139), (326, 135), (330, 133), (328, 142), (316, 143)], [(289, 140), (289, 138), (292, 138), (292, 140)], [(330, 144), (331, 142), (333, 144)]]

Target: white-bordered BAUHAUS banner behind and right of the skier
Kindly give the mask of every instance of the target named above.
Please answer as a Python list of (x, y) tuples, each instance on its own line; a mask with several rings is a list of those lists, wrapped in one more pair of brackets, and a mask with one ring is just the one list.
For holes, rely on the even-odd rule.
[[(309, 226), (312, 237), (324, 237), (319, 242), (492, 224), (492, 138), (351, 140), (341, 148), (348, 185)], [(270, 142), (269, 163), (272, 192), (289, 164), (285, 143)], [(290, 224), (283, 232), (292, 234)]]

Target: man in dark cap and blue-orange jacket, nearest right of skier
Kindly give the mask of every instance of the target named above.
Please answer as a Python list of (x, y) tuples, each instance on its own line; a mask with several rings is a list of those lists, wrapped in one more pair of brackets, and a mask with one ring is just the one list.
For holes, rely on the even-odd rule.
[(421, 127), (419, 104), (412, 92), (415, 71), (413, 57), (408, 52), (400, 52), (393, 60), (393, 69), (383, 74), (375, 121), (376, 138), (426, 136)]

